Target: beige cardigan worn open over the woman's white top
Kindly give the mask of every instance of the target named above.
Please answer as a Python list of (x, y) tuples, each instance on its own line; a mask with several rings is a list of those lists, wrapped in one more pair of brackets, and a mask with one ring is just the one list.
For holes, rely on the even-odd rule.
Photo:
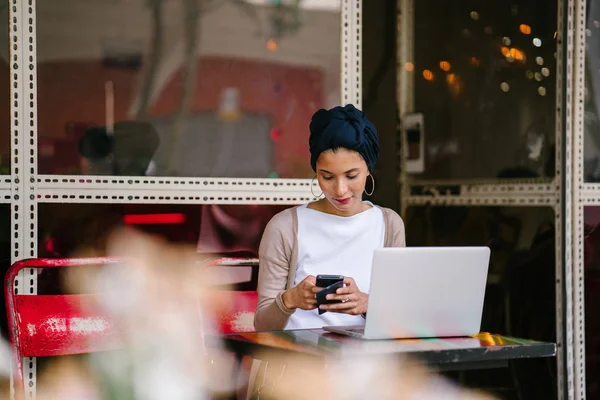
[[(404, 222), (389, 208), (380, 207), (385, 220), (385, 247), (404, 247)], [(258, 251), (257, 331), (281, 330), (295, 310), (283, 304), (282, 293), (293, 287), (298, 263), (297, 207), (275, 215), (267, 224)]]

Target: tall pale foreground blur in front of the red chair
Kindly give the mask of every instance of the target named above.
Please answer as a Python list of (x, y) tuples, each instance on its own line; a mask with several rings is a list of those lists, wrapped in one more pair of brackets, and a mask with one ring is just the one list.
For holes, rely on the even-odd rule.
[(108, 254), (130, 261), (102, 268), (91, 280), (71, 279), (104, 294), (103, 306), (122, 332), (123, 350), (92, 355), (115, 395), (187, 400), (233, 390), (227, 371), (215, 371), (227, 365), (215, 363), (224, 353), (204, 345), (205, 332), (214, 332), (210, 316), (226, 299), (212, 300), (194, 249), (123, 230), (110, 237)]

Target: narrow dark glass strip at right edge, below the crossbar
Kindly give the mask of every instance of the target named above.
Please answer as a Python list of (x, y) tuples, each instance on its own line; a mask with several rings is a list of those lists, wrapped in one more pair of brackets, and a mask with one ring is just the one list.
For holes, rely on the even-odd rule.
[(585, 361), (587, 398), (600, 395), (600, 207), (584, 208)]

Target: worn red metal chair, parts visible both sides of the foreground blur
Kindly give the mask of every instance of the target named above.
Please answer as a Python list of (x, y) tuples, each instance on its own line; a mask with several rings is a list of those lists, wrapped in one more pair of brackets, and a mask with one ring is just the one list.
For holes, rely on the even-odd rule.
[[(31, 268), (101, 266), (121, 263), (114, 258), (29, 259), (18, 261), (5, 276), (4, 296), (10, 343), (17, 366), (19, 387), (23, 387), (23, 359), (74, 355), (114, 350), (121, 346), (120, 333), (102, 307), (101, 293), (73, 295), (16, 294), (14, 281), (20, 271)], [(219, 262), (212, 264), (218, 268)], [(217, 315), (218, 333), (254, 330), (256, 291), (217, 291), (228, 305)], [(215, 333), (217, 333), (215, 332)], [(233, 357), (232, 357), (233, 358)], [(233, 360), (232, 372), (249, 360)], [(32, 377), (27, 377), (32, 379)]]

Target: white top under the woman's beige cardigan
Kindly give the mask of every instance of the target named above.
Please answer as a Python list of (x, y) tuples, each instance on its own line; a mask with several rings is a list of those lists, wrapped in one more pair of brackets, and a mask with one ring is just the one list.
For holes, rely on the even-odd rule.
[[(371, 203), (366, 202), (367, 204)], [(383, 247), (385, 223), (378, 207), (351, 217), (340, 217), (298, 207), (298, 264), (294, 286), (308, 275), (344, 275), (354, 278), (361, 292), (368, 293), (373, 252)], [(285, 329), (363, 325), (360, 315), (297, 309)]]

